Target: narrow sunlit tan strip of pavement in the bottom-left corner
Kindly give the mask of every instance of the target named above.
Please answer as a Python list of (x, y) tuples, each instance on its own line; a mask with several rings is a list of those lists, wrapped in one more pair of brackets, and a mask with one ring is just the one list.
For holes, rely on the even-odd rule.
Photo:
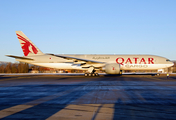
[(14, 113), (20, 112), (22, 110), (33, 107), (33, 105), (17, 105), (11, 108), (7, 108), (0, 111), (0, 119), (12, 115)]

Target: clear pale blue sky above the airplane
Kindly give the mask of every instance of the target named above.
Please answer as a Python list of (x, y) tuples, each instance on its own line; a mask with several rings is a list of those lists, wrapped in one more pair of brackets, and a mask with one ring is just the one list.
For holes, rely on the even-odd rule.
[(176, 60), (175, 5), (176, 0), (1, 0), (0, 61), (23, 56), (15, 31), (44, 53)]

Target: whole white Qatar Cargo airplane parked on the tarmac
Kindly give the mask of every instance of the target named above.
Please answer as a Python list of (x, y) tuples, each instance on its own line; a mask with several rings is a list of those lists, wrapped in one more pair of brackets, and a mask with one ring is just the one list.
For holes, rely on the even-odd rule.
[(6, 56), (37, 66), (86, 70), (85, 76), (98, 76), (96, 70), (120, 75), (123, 70), (160, 70), (174, 65), (169, 59), (156, 55), (44, 54), (22, 31), (16, 31), (16, 35), (24, 56)]

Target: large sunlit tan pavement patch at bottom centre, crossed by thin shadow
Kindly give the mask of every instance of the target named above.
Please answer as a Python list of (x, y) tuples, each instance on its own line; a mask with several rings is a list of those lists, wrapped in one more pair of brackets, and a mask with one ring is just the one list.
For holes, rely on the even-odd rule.
[(68, 105), (46, 120), (111, 120), (114, 116), (114, 104)]

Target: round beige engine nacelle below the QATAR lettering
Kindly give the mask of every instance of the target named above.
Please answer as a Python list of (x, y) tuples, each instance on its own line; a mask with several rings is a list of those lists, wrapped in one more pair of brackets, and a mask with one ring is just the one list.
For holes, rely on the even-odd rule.
[(120, 74), (120, 64), (117, 63), (106, 64), (105, 72), (107, 74)]

